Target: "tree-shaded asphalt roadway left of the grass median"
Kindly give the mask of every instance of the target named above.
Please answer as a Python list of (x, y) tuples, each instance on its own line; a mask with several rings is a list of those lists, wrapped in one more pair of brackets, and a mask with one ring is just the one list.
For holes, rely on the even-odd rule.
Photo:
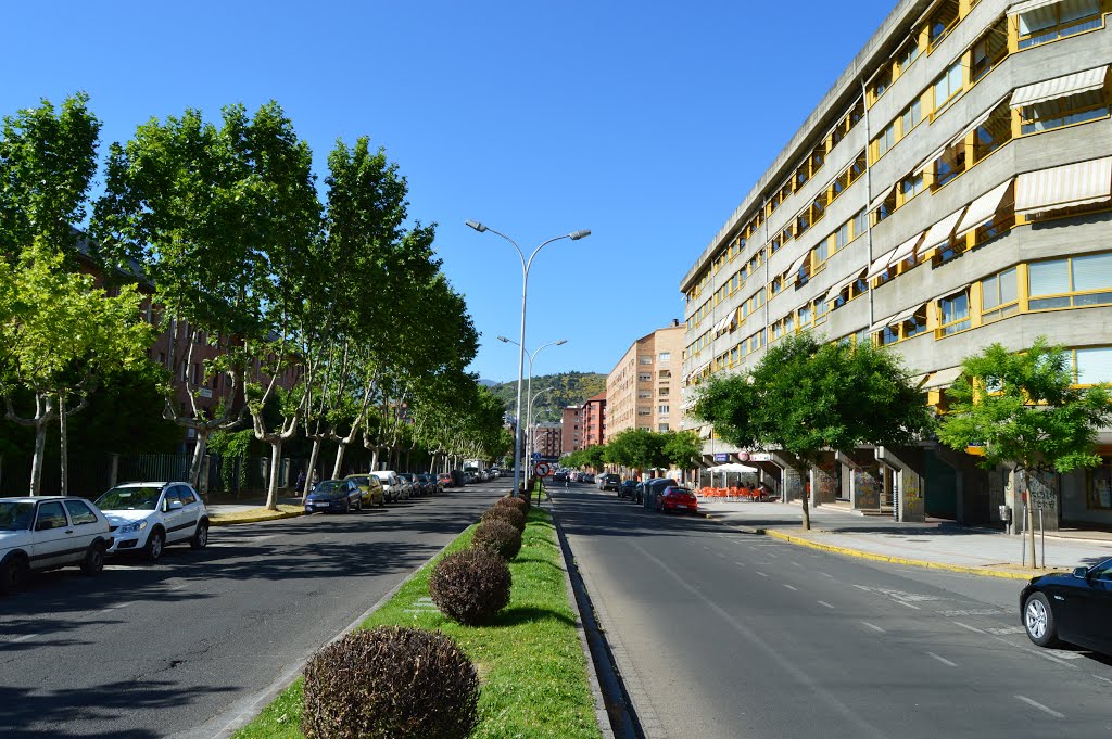
[(218, 736), (509, 487), (222, 527), (156, 566), (32, 578), (0, 598), (0, 736)]

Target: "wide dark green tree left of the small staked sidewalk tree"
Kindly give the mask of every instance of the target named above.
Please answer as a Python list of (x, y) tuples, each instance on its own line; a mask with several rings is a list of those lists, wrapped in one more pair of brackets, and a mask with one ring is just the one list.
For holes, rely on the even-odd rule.
[[(907, 445), (931, 428), (898, 357), (872, 344), (820, 343), (811, 333), (774, 343), (752, 370), (712, 377), (693, 416), (741, 449), (778, 449), (801, 478), (823, 450)], [(802, 496), (803, 528), (811, 528)]]

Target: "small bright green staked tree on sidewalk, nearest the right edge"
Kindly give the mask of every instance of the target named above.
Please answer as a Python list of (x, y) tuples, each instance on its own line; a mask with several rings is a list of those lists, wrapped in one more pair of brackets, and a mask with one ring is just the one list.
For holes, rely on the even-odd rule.
[[(1010, 465), (1029, 476), (1054, 470), (1070, 472), (1100, 463), (1096, 432), (1112, 422), (1106, 386), (1074, 387), (1070, 358), (1060, 347), (1039, 337), (1022, 352), (999, 343), (967, 357), (962, 377), (946, 391), (950, 412), (939, 427), (939, 440), (964, 451), (980, 447), (981, 467)], [(1026, 528), (1034, 562), (1034, 507), (1027, 507)]]

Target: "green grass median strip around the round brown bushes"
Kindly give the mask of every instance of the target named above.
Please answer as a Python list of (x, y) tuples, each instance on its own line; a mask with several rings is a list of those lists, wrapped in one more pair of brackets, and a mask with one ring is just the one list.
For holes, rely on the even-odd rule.
[[(466, 548), (473, 531), (474, 527), (461, 533), (445, 553)], [(493, 625), (460, 626), (436, 610), (428, 593), (434, 561), (361, 628), (409, 626), (451, 637), (475, 662), (483, 683), (474, 738), (600, 737), (560, 560), (548, 513), (534, 508), (522, 551), (509, 562), (514, 577), (509, 606)], [(301, 737), (300, 719), (298, 678), (235, 739)]]

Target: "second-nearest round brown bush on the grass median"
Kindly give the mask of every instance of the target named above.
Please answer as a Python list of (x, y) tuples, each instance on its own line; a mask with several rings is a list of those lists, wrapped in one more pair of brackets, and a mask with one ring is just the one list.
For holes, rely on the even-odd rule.
[(509, 602), (509, 567), (498, 555), (475, 547), (448, 555), (433, 569), (428, 592), (440, 612), (466, 626), (489, 622)]

